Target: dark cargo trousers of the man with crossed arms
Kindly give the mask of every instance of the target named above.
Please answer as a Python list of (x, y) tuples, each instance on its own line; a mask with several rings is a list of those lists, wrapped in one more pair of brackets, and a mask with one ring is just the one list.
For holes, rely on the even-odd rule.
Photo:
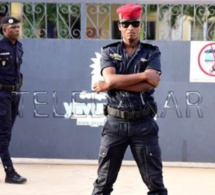
[(92, 195), (111, 194), (128, 146), (149, 189), (148, 195), (167, 195), (163, 184), (158, 125), (151, 116), (135, 120), (107, 117), (99, 149), (98, 178)]

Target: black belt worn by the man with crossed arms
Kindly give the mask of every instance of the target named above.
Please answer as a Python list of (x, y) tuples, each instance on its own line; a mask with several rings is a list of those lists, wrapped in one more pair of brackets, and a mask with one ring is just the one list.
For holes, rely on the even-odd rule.
[(144, 116), (148, 116), (151, 114), (151, 110), (148, 106), (146, 106), (141, 110), (136, 110), (136, 111), (122, 111), (122, 110), (107, 106), (106, 114), (129, 120), (129, 119), (138, 119)]

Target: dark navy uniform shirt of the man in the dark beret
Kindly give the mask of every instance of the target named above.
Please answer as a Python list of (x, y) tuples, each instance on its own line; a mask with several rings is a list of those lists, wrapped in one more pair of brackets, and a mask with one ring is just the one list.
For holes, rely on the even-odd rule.
[(7, 37), (0, 40), (0, 83), (4, 85), (19, 83), (22, 55), (22, 44), (19, 41), (12, 44)]

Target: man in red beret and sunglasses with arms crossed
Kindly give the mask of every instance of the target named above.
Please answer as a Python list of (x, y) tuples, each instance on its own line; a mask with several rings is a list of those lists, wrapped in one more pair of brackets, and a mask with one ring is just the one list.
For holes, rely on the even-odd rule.
[(117, 9), (122, 41), (103, 47), (96, 92), (107, 91), (107, 120), (99, 149), (98, 178), (93, 195), (110, 195), (128, 146), (131, 148), (148, 195), (167, 195), (163, 184), (161, 150), (154, 88), (161, 74), (158, 47), (139, 40), (142, 7), (127, 4)]

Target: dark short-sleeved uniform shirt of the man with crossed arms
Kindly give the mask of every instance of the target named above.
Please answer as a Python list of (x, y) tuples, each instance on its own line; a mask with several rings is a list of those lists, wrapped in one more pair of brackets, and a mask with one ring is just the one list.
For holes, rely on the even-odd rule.
[[(161, 72), (160, 55), (158, 47), (140, 43), (136, 53), (129, 56), (123, 47), (123, 42), (116, 42), (102, 49), (101, 74), (106, 67), (114, 67), (116, 74), (134, 74), (144, 72), (146, 69)], [(146, 102), (154, 101), (154, 89), (140, 93), (113, 89), (107, 94), (108, 105), (121, 110), (138, 110)]]

